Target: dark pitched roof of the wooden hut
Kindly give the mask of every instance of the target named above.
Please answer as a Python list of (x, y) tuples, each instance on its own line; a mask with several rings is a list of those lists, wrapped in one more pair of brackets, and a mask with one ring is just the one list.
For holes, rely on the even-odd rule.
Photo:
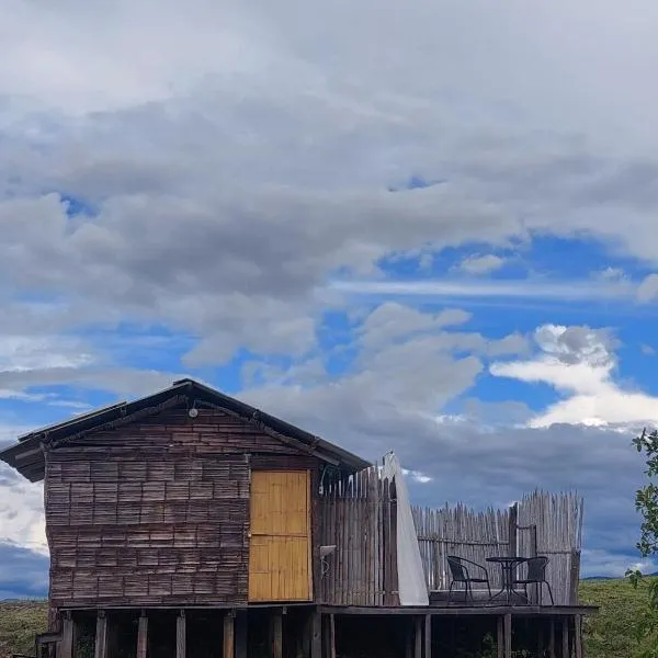
[(257, 422), (265, 431), (274, 432), (282, 440), (292, 439), (306, 447), (309, 453), (337, 467), (354, 472), (371, 465), (365, 460), (315, 434), (189, 378), (179, 379), (169, 388), (132, 402), (122, 401), (102, 407), (19, 436), (18, 443), (0, 452), (0, 460), (15, 468), (29, 480), (39, 481), (44, 478), (45, 470), (42, 444), (59, 442), (80, 432), (94, 430), (122, 419), (127, 420), (131, 416), (141, 411), (156, 410), (160, 405), (177, 397), (184, 397), (189, 402), (196, 402), (200, 406), (211, 405), (230, 411), (247, 421)]

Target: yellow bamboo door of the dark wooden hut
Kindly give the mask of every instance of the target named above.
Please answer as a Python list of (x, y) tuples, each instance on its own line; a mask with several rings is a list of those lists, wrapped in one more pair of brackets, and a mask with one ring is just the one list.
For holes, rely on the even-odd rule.
[(310, 601), (310, 474), (252, 470), (249, 601)]

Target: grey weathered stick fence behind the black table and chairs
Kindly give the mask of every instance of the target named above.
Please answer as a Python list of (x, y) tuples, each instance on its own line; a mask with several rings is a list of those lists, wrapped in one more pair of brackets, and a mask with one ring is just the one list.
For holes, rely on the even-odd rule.
[[(458, 504), (439, 510), (412, 508), (428, 587), (450, 587), (447, 556), (476, 561), (489, 571), (492, 587), (501, 586), (501, 571), (487, 557), (545, 555), (546, 578), (557, 605), (576, 605), (580, 577), (582, 499), (571, 494), (536, 491), (523, 497), (517, 509), (475, 511)], [(513, 522), (517, 514), (517, 523)], [(511, 519), (511, 521), (510, 521)], [(536, 543), (535, 543), (536, 534)], [(523, 575), (523, 567), (520, 570)], [(474, 589), (486, 586), (474, 585)], [(531, 588), (529, 593), (533, 594)], [(549, 603), (544, 586), (541, 603)]]

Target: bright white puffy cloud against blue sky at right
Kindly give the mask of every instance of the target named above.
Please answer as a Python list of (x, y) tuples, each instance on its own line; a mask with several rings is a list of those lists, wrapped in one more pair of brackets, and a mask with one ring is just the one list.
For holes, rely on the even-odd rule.
[(534, 359), (490, 366), (494, 376), (548, 384), (565, 396), (533, 417), (530, 427), (658, 423), (658, 398), (628, 390), (614, 381), (614, 341), (608, 332), (546, 325), (535, 332), (535, 342), (540, 353)]

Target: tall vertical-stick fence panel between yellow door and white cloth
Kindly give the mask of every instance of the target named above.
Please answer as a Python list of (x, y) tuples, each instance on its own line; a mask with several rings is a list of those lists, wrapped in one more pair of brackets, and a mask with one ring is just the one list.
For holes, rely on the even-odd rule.
[(333, 605), (399, 605), (395, 485), (377, 466), (324, 483), (321, 598)]

